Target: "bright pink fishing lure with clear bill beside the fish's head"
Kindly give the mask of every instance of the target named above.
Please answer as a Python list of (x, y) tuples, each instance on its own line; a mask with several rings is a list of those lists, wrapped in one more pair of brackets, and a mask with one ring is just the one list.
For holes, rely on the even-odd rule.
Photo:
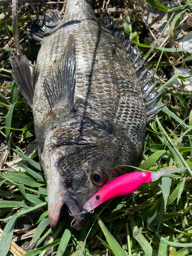
[(113, 197), (127, 195), (135, 191), (142, 184), (158, 180), (162, 175), (181, 172), (185, 167), (162, 170), (156, 173), (135, 172), (122, 175), (100, 189), (83, 208), (91, 211)]

